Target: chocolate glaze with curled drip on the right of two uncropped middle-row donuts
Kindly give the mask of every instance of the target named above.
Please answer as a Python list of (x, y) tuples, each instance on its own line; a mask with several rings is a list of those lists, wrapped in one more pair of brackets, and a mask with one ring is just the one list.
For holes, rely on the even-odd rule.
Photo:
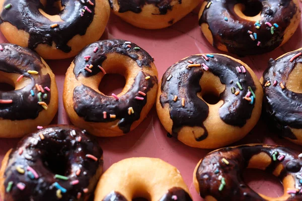
[[(202, 90), (199, 80), (204, 70), (201, 67), (187, 69), (186, 67), (190, 64), (188, 60), (197, 64), (205, 63), (209, 67), (208, 71), (218, 76), (221, 83), (225, 84), (225, 90), (219, 95), (219, 98), (224, 102), (219, 109), (219, 116), (226, 124), (243, 127), (246, 121), (251, 118), (254, 109), (254, 105), (243, 99), (248, 92), (248, 86), (254, 92), (256, 91), (251, 74), (248, 71), (238, 73), (236, 66), (241, 66), (241, 64), (222, 55), (214, 54), (214, 57), (209, 58), (208, 61), (205, 61), (201, 55), (192, 55), (173, 64), (162, 78), (160, 103), (162, 107), (169, 104), (170, 118), (173, 121), (172, 135), (177, 137), (178, 132), (184, 126), (197, 126), (204, 129), (204, 134), (196, 138), (196, 141), (204, 140), (208, 135), (203, 122), (208, 117), (209, 108), (204, 100), (197, 96), (197, 93)], [(172, 75), (172, 78), (168, 81), (169, 75)], [(240, 82), (243, 90), (240, 90), (236, 96), (232, 93), (231, 88), (235, 87), (236, 90), (239, 90), (237, 81)], [(177, 102), (173, 100), (175, 95), (178, 96)], [(185, 98), (185, 107), (182, 107), (181, 103), (183, 97)], [(257, 101), (257, 97), (255, 100)]]

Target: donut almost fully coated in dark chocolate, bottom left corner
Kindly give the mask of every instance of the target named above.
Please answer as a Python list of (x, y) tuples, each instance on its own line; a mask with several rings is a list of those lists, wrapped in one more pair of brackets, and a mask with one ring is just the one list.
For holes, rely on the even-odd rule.
[(2, 161), (2, 200), (87, 200), (102, 173), (102, 155), (97, 141), (75, 127), (29, 134)]

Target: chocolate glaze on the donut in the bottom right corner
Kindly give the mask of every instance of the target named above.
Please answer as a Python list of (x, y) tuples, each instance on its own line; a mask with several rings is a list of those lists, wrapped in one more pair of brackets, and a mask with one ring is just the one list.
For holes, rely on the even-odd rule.
[[(273, 160), (272, 154), (275, 151), (278, 152), (277, 156), (280, 156), (279, 153), (285, 155), (282, 161)], [(265, 169), (266, 172), (272, 173), (279, 164), (282, 164), (284, 168), (278, 178), (282, 181), (285, 176), (292, 175), (295, 179), (295, 186), (301, 186), (299, 179), (295, 177), (296, 174), (300, 175), (302, 173), (302, 161), (298, 158), (298, 152), (278, 146), (243, 145), (219, 149), (202, 159), (196, 172), (200, 196), (212, 195), (217, 200), (265, 200), (248, 187), (242, 177), (243, 170), (248, 167), (250, 159), (259, 153), (266, 153), (271, 156), (271, 162)], [(223, 163), (221, 161), (222, 158), (228, 160), (230, 164), (226, 165)], [(216, 169), (219, 170), (217, 174), (214, 173)], [(218, 179), (219, 175), (222, 175), (226, 183), (221, 191), (218, 190), (221, 184)], [(301, 198), (301, 194), (291, 194), (291, 197), (287, 200), (296, 200), (298, 198)]]

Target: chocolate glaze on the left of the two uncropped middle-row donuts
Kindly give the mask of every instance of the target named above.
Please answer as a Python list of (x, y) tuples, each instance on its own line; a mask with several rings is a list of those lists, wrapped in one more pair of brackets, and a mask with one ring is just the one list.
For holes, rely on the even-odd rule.
[[(99, 47), (99, 50), (93, 53), (95, 47)], [(77, 78), (80, 74), (85, 77), (98, 74), (101, 70), (97, 66), (102, 66), (102, 63), (107, 58), (106, 55), (113, 52), (130, 57), (140, 67), (150, 67), (153, 58), (143, 49), (134, 50), (134, 47), (137, 47), (134, 43), (131, 43), (131, 48), (128, 48), (124, 40), (117, 39), (93, 43), (74, 59), (73, 73)], [(91, 55), (89, 61), (84, 59), (84, 56), (87, 55)], [(88, 63), (96, 66), (92, 68), (91, 73), (84, 69)], [(145, 79), (146, 76), (149, 76), (149, 74), (140, 71), (134, 78), (131, 88), (119, 97), (119, 100), (111, 96), (102, 95), (84, 84), (77, 86), (73, 90), (73, 109), (88, 122), (105, 123), (119, 120), (119, 128), (124, 133), (128, 133), (132, 123), (140, 118), (140, 113), (147, 102), (147, 95), (143, 96), (143, 100), (137, 100), (135, 96), (141, 96), (138, 94), (138, 91), (147, 93), (158, 83), (156, 76), (150, 76), (149, 79)], [(143, 87), (146, 88), (144, 89)], [(133, 108), (134, 114), (128, 114), (129, 107)], [(103, 112), (107, 112), (106, 119), (103, 117)], [(116, 118), (110, 118), (110, 114), (116, 115)]]

